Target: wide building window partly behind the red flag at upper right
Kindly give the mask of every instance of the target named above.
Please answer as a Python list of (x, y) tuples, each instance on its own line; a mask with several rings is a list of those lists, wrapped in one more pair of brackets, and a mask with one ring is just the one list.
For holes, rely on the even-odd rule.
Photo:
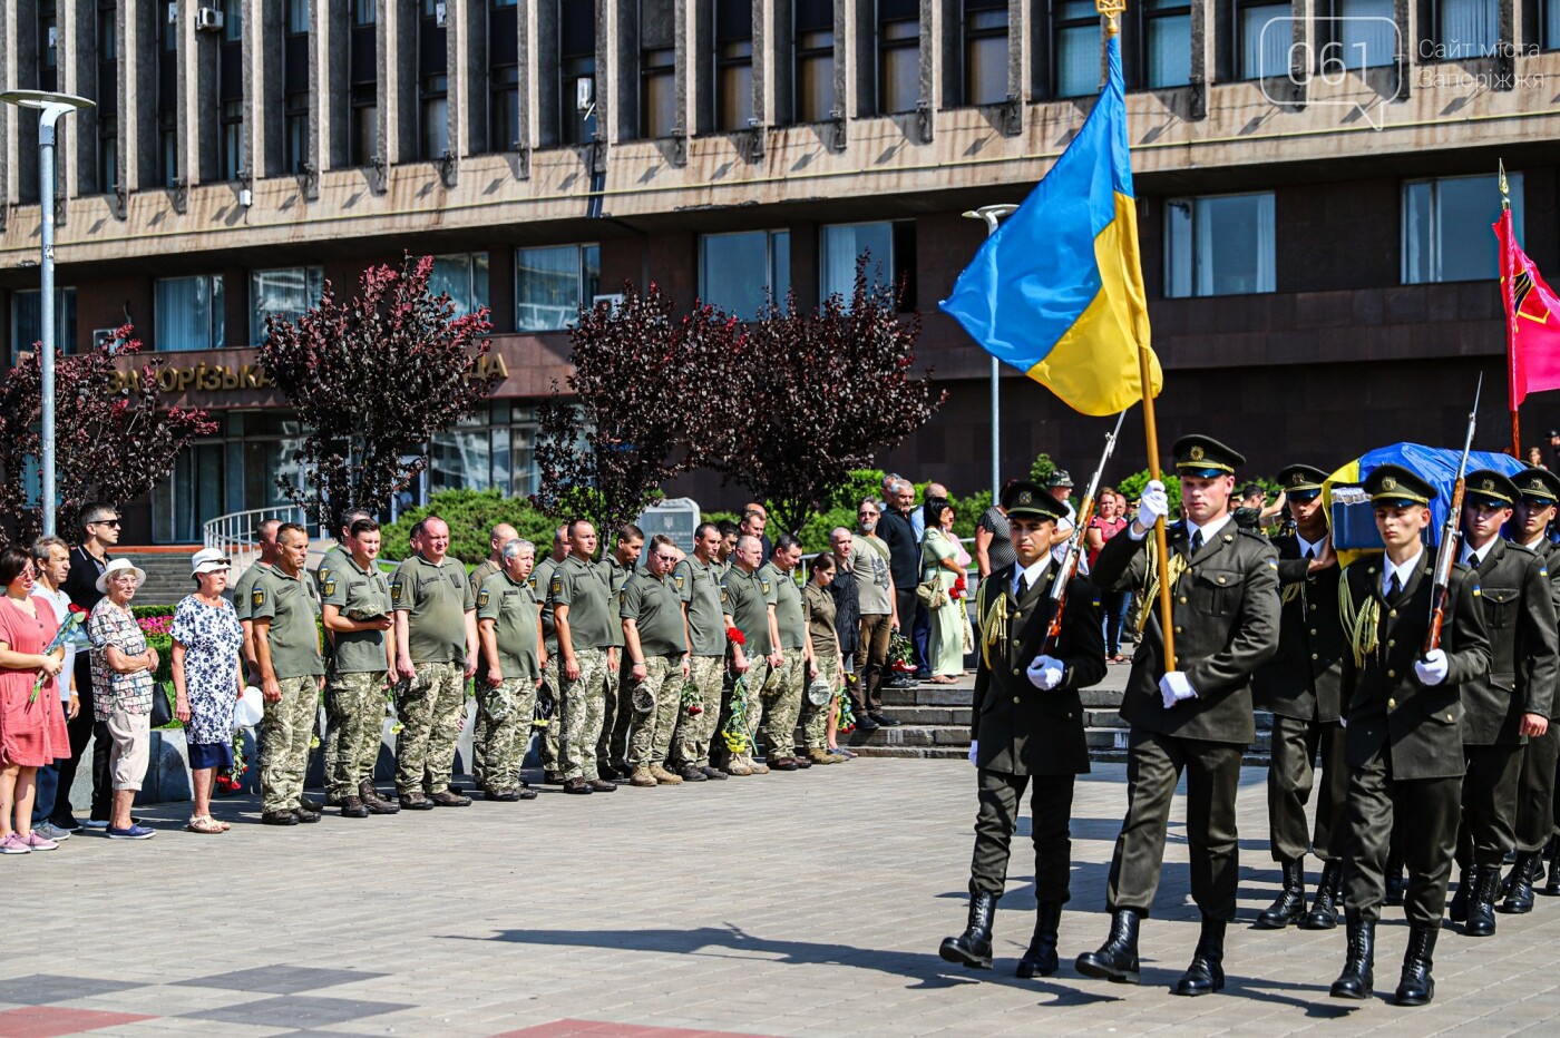
[[(1512, 226), (1523, 237), (1523, 175), (1509, 173)], [(1501, 217), (1498, 176), (1443, 176), (1402, 185), (1402, 284), (1501, 276), (1490, 224)]]

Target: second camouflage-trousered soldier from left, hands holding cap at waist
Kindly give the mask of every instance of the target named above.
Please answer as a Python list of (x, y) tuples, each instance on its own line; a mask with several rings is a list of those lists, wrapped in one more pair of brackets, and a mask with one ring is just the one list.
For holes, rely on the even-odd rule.
[(384, 737), (385, 690), (393, 687), (395, 619), (390, 616), (390, 584), (374, 563), (379, 558), (379, 524), (354, 519), (353, 553), (324, 570), (320, 592), (321, 622), (335, 642), (326, 680), (326, 709), (337, 736), (335, 759), (328, 761), (328, 800), (342, 806), (343, 818), (393, 815), (399, 806), (374, 789), (374, 762)]

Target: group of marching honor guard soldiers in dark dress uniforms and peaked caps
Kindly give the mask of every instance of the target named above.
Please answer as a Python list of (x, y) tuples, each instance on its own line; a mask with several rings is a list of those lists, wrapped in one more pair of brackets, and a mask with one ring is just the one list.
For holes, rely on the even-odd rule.
[[(1225, 930), (1239, 887), (1236, 790), (1256, 734), (1254, 709), (1267, 709), (1268, 837), (1284, 879), (1257, 926), (1332, 929), (1342, 909), (1345, 965), (1331, 993), (1365, 999), (1381, 909), (1399, 901), (1410, 930), (1395, 999), (1424, 1005), (1435, 993), (1434, 951), (1454, 862), (1462, 874), (1449, 913), (1470, 937), (1494, 934), (1498, 904), (1532, 910), (1546, 848), (1544, 893), (1560, 893), (1560, 736), (1548, 720), (1560, 676), (1560, 549), (1548, 536), (1560, 478), (1544, 469), (1466, 475), (1460, 556), (1445, 588), (1440, 637), (1432, 639), (1437, 581), (1426, 530), (1437, 489), (1420, 472), (1381, 464), (1368, 474), (1362, 491), (1384, 552), (1340, 567), (1323, 510), (1326, 472), (1295, 464), (1279, 474), (1293, 531), (1268, 541), (1231, 514), (1240, 454), (1209, 436), (1184, 436), (1173, 452), (1181, 519), (1167, 524), (1164, 485), (1151, 482), (1090, 580), (1073, 577), (1059, 639), (1039, 656), (1037, 645), (1051, 647), (1042, 636), (1055, 614), (1056, 563), (1045, 547), (1061, 511), (1031, 485), (1003, 497), (1017, 563), (992, 574), (977, 598), (970, 759), (980, 810), (969, 924), (941, 954), (991, 966), (1019, 801), (1033, 786), (1037, 920), (1019, 976), (1058, 969), (1073, 779), (1089, 770), (1080, 690), (1106, 670), (1098, 589), (1136, 591), (1145, 616), (1122, 703), (1131, 726), (1128, 812), (1111, 862), (1111, 932), (1078, 957), (1078, 973), (1139, 982), (1139, 930), (1159, 885), (1170, 803), (1186, 775), (1201, 934), (1175, 993), (1223, 988)], [(1161, 524), (1172, 639), (1158, 608), (1151, 535)], [(1314, 828), (1306, 821), (1312, 796)], [(1307, 853), (1323, 862), (1309, 909)], [(1502, 862), (1513, 854), (1502, 879)]]

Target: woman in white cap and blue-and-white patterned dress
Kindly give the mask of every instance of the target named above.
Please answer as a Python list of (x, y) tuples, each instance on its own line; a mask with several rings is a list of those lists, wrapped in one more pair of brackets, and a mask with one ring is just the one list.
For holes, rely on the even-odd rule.
[(239, 650), (243, 628), (228, 589), (228, 558), (218, 549), (201, 549), (190, 560), (195, 594), (173, 611), (173, 715), (184, 722), (195, 814), (190, 832), (226, 832), (228, 823), (211, 817), (211, 787), (218, 768), (232, 767), (232, 708), (243, 690)]

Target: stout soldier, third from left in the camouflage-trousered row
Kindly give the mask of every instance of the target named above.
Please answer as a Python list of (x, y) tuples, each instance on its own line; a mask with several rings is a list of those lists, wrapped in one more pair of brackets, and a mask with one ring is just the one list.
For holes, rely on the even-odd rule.
[(477, 666), (476, 595), (466, 567), (448, 556), (449, 527), (429, 516), (423, 547), (390, 580), (395, 609), (396, 792), (412, 810), (465, 807), (470, 796), (449, 789), (456, 737), (465, 718), (466, 680)]

